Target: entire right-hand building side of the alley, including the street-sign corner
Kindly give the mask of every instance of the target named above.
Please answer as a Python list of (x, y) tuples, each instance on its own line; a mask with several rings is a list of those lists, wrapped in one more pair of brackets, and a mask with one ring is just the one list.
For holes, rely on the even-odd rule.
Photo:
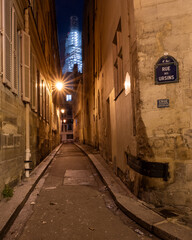
[(191, 18), (190, 0), (85, 1), (81, 141), (156, 206), (192, 207)]

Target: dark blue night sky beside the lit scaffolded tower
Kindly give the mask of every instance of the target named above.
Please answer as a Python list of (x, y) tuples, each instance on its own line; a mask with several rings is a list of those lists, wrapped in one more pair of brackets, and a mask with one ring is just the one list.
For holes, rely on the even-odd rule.
[(63, 42), (70, 30), (70, 17), (79, 18), (79, 27), (82, 30), (83, 0), (55, 0), (57, 29), (59, 35), (60, 56), (63, 55)]

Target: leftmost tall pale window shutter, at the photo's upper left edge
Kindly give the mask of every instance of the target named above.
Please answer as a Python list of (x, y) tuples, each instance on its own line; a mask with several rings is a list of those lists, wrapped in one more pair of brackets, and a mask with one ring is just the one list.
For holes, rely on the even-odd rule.
[(11, 87), (11, 0), (3, 0), (3, 82)]

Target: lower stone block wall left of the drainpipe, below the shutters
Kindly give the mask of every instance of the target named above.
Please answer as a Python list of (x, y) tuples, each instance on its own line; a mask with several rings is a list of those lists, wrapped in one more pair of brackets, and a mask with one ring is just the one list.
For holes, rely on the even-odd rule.
[[(24, 104), (0, 82), (0, 192), (24, 174)], [(23, 117), (22, 117), (23, 116)]]

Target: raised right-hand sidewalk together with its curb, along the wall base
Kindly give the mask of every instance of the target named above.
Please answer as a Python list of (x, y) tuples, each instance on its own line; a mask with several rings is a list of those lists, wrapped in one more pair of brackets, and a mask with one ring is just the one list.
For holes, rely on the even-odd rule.
[[(90, 146), (76, 144), (87, 154), (95, 168), (108, 186), (117, 206), (135, 222), (154, 233), (162, 239), (191, 240), (192, 228), (183, 225), (178, 218), (166, 218), (160, 215), (155, 207), (135, 198), (121, 183), (121, 181), (109, 170), (101, 155)], [(176, 215), (177, 216), (177, 215)]]

